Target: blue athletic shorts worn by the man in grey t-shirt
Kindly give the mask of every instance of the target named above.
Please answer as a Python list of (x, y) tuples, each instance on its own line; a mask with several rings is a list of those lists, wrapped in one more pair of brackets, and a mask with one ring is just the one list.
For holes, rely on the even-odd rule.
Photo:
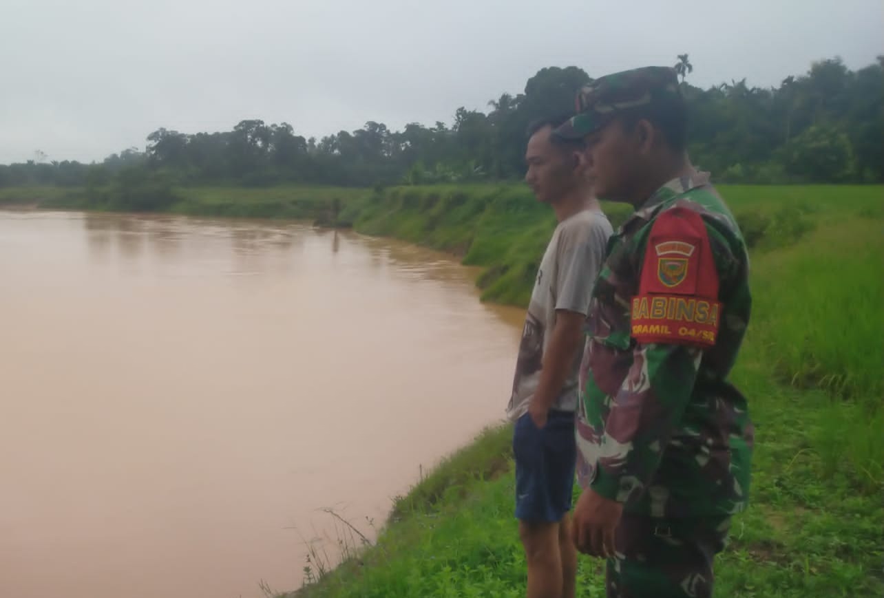
[(572, 412), (550, 410), (537, 428), (529, 413), (515, 422), (515, 517), (560, 521), (571, 510), (577, 447)]

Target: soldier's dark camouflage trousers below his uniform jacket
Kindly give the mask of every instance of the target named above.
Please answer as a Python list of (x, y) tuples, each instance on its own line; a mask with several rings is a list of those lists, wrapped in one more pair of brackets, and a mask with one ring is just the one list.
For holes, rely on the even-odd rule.
[(623, 514), (606, 570), (608, 598), (709, 598), (713, 559), (730, 518), (659, 519)]

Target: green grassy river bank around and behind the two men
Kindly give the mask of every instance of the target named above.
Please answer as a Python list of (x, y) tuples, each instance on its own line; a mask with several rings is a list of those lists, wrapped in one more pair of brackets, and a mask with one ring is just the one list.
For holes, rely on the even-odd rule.
[[(749, 397), (757, 448), (751, 506), (720, 557), (717, 594), (880, 594), (882, 188), (720, 191), (751, 245), (753, 316), (733, 379)], [(484, 300), (520, 307), (554, 226), (520, 185), (348, 197), (326, 189), (322, 199), (283, 189), (179, 193), (172, 211), (210, 216), (317, 218), (339, 199), (332, 224), (462, 256), (483, 267)], [(615, 226), (628, 213), (604, 208)], [(485, 431), (397, 497), (377, 541), (351, 542), (333, 569), (311, 556), (304, 566), (316, 583), (298, 595), (522, 595), (509, 451), (507, 427)], [(597, 561), (582, 558), (579, 579), (582, 595), (602, 595)]]

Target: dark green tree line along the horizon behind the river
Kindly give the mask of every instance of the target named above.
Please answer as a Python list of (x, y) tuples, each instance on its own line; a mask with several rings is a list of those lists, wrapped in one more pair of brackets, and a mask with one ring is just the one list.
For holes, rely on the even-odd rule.
[[(779, 87), (746, 79), (701, 89), (687, 79), (687, 54), (674, 64), (690, 102), (690, 155), (726, 182), (878, 183), (884, 181), (884, 57), (856, 72), (841, 58), (814, 62)], [(391, 131), (367, 122), (356, 131), (305, 138), (288, 123), (243, 120), (227, 132), (161, 128), (147, 145), (102, 163), (50, 161), (0, 165), (0, 186), (303, 184), (370, 186), (521, 178), (525, 130), (536, 118), (571, 112), (575, 90), (591, 81), (575, 66), (549, 67), (524, 91), (486, 110), (458, 108), (451, 125), (410, 123)]]

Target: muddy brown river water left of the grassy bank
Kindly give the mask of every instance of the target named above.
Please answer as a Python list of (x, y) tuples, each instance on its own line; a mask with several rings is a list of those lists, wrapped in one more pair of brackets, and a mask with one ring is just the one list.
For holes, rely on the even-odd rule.
[[(503, 417), (522, 310), (306, 224), (0, 211), (0, 596), (301, 585)], [(367, 519), (368, 518), (368, 519)]]

